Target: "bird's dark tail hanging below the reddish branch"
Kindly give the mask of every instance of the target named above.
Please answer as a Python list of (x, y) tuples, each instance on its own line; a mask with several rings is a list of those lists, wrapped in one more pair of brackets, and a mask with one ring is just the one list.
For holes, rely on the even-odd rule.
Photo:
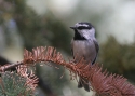
[(89, 81), (79, 79), (78, 88), (84, 87), (85, 91), (90, 92)]

